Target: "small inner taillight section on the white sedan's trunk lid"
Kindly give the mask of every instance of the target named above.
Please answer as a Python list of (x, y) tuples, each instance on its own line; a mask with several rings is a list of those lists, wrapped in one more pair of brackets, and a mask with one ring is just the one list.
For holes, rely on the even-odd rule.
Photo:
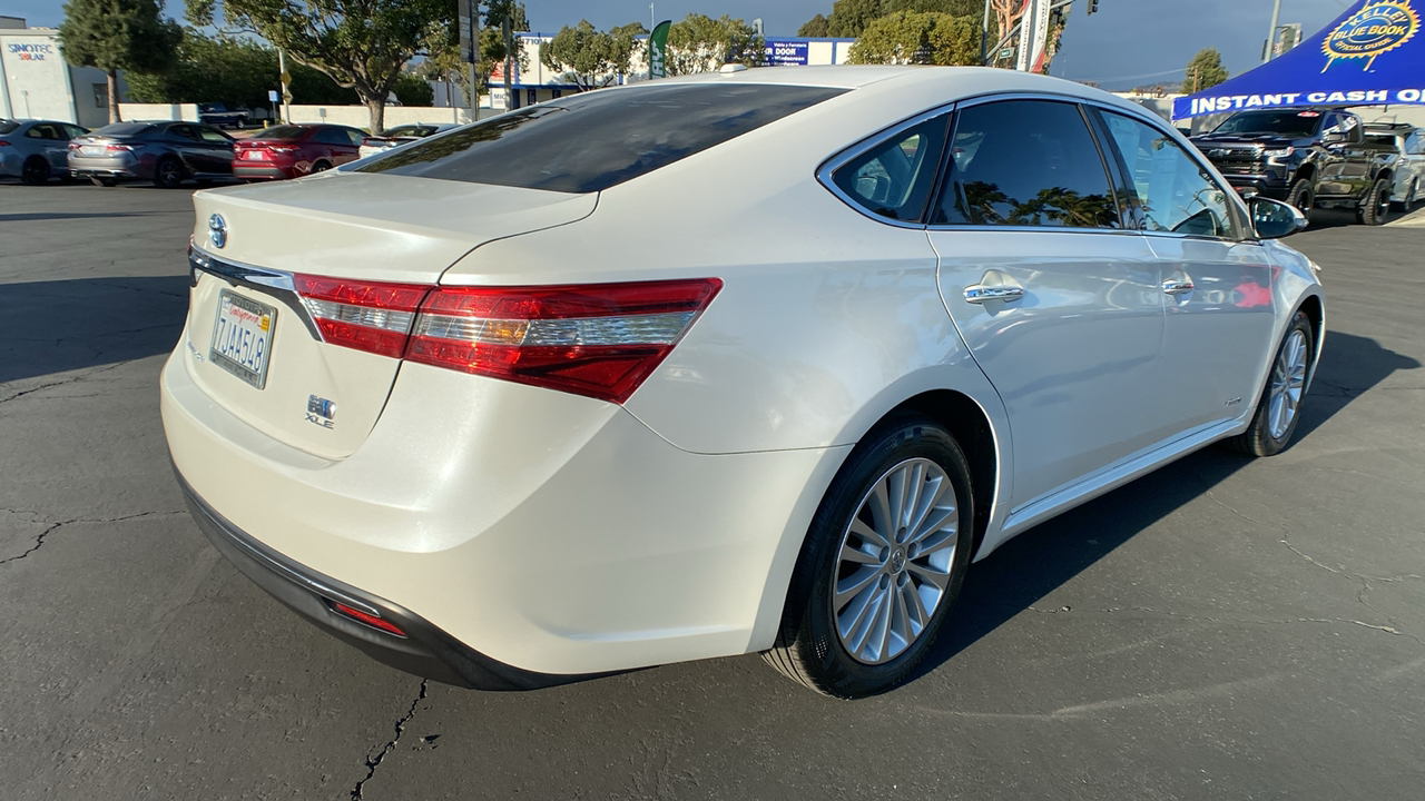
[(429, 286), (294, 275), (302, 304), (332, 345), (400, 358)]

